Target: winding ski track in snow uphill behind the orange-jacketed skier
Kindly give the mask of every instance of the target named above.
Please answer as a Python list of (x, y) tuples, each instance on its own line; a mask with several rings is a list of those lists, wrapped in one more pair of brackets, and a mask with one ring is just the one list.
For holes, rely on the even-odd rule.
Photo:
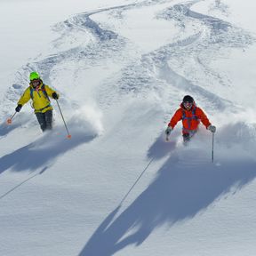
[[(207, 68), (207, 63), (204, 64), (205, 60), (209, 60), (209, 58), (207, 58), (209, 52), (211, 55), (218, 56), (221, 48), (244, 48), (255, 41), (251, 35), (240, 28), (232, 26), (232, 24), (226, 21), (191, 11), (189, 8), (197, 2), (198, 1), (189, 4), (176, 4), (158, 15), (158, 17), (162, 19), (175, 20), (181, 29), (186, 27), (185, 24), (188, 20), (198, 20), (201, 25), (201, 31), (196, 31), (195, 35), (188, 36), (188, 38), (180, 42), (164, 46), (154, 53), (155, 56), (153, 58), (158, 59), (159, 64), (157, 66), (160, 69), (160, 76), (169, 82), (169, 84), (174, 84), (174, 86), (183, 89), (184, 92), (196, 93), (196, 98), (203, 98), (204, 101), (209, 102), (209, 105), (213, 106), (214, 111), (223, 111), (230, 107), (236, 109), (236, 106), (229, 100), (225, 100), (217, 94), (214, 95), (212, 92), (205, 90), (202, 85), (194, 84), (189, 77), (186, 78), (178, 75), (172, 69), (172, 66), (170, 67), (168, 62), (169, 60), (175, 59), (178, 63), (182, 63), (180, 64), (181, 67), (186, 63), (186, 58), (192, 55), (191, 58), (196, 60), (197, 66), (203, 66), (204, 76), (213, 76), (213, 81), (219, 81), (220, 84), (223, 84), (223, 80), (225, 79), (219, 74), (214, 73), (210, 68)], [(190, 71), (192, 71), (190, 72), (191, 74), (195, 74), (193, 70)], [(198, 72), (198, 70), (196, 71)], [(189, 72), (187, 72), (187, 74), (188, 73)], [(226, 84), (226, 86), (227, 85), (228, 84)]]

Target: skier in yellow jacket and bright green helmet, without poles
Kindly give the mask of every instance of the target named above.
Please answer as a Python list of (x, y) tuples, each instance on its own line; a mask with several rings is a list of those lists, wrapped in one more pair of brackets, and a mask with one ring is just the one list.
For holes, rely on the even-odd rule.
[(38, 73), (30, 73), (29, 79), (30, 84), (20, 97), (15, 111), (20, 112), (22, 106), (26, 104), (28, 100), (32, 100), (32, 106), (35, 109), (36, 118), (42, 131), (44, 132), (45, 130), (51, 130), (53, 108), (49, 97), (54, 100), (58, 100), (59, 94), (52, 90), (50, 86), (44, 84)]

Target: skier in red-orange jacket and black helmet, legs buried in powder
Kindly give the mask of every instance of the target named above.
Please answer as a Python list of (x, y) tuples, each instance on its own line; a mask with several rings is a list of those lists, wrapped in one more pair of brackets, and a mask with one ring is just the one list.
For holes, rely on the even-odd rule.
[(186, 95), (180, 103), (180, 108), (172, 116), (167, 129), (165, 130), (166, 135), (170, 135), (175, 125), (182, 120), (183, 129), (182, 136), (184, 142), (190, 140), (190, 138), (197, 132), (200, 121), (204, 124), (207, 130), (216, 132), (216, 127), (212, 125), (208, 117), (204, 114), (201, 108), (196, 107), (195, 100), (190, 96)]

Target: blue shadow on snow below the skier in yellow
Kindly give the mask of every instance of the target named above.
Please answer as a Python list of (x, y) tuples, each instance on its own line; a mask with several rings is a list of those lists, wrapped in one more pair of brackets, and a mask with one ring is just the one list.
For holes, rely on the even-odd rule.
[(35, 171), (37, 168), (52, 164), (53, 160), (80, 144), (93, 140), (96, 135), (76, 132), (72, 138), (65, 134), (48, 132), (40, 139), (0, 158), (0, 174), (9, 168), (12, 171)]

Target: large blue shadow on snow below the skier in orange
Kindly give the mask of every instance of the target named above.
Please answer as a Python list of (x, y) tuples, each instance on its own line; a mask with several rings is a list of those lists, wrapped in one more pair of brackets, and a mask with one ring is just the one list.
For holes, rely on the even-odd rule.
[[(189, 220), (216, 199), (241, 189), (256, 177), (255, 162), (183, 164), (173, 153), (156, 179), (116, 218), (118, 207), (103, 220), (79, 256), (110, 256), (140, 245), (163, 224)], [(132, 233), (133, 230), (133, 233)]]

